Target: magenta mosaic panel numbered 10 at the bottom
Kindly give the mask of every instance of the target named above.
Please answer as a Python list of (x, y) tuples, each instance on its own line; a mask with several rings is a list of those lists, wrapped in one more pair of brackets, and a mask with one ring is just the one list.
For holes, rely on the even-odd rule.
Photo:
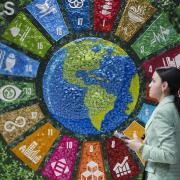
[(64, 136), (41, 170), (42, 175), (51, 180), (71, 180), (78, 145), (76, 139)]

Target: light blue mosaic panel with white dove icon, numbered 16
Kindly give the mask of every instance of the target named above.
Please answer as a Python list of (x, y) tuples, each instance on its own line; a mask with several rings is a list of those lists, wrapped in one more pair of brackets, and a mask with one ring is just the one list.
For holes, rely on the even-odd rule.
[(69, 33), (57, 0), (34, 0), (26, 8), (55, 41)]

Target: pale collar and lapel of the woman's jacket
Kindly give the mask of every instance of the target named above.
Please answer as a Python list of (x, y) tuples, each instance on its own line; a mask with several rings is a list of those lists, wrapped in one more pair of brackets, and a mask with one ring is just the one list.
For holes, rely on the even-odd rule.
[(165, 104), (167, 103), (171, 103), (174, 102), (174, 96), (170, 95), (170, 96), (166, 96), (163, 98), (163, 100), (158, 104), (158, 106), (156, 107), (156, 109), (153, 111), (151, 117), (149, 118), (148, 122), (146, 123), (145, 129), (147, 130), (147, 128), (149, 127), (149, 125), (151, 124), (151, 122), (154, 119), (154, 115), (156, 114), (156, 112)]

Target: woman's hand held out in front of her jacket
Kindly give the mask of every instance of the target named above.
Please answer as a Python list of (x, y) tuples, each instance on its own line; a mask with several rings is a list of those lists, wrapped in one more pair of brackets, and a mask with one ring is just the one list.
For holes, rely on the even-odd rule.
[(136, 131), (133, 132), (133, 139), (123, 139), (126, 145), (135, 152), (138, 152), (143, 143), (139, 140)]

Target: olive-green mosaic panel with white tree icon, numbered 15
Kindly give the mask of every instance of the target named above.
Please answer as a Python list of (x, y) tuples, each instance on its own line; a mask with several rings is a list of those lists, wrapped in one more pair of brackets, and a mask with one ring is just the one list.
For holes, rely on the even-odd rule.
[(44, 57), (51, 44), (23, 14), (19, 13), (4, 31), (2, 37), (40, 57)]

